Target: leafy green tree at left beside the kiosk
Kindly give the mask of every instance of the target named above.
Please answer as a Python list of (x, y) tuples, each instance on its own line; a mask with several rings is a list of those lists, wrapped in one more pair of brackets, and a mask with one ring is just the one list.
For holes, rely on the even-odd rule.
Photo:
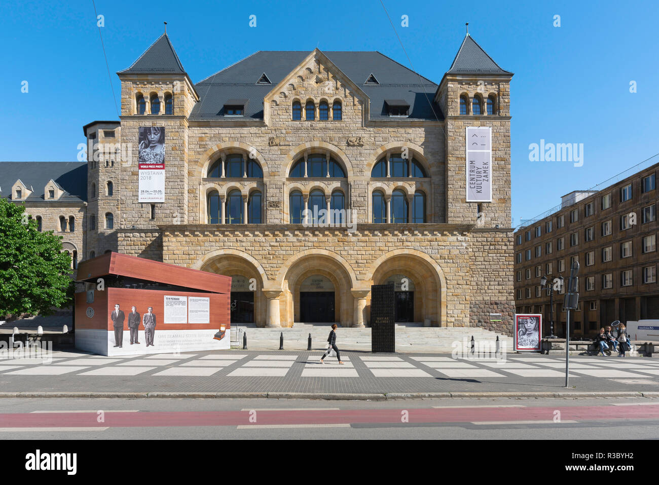
[(53, 231), (39, 232), (24, 204), (0, 198), (0, 317), (48, 315), (71, 304), (71, 256), (61, 241)]

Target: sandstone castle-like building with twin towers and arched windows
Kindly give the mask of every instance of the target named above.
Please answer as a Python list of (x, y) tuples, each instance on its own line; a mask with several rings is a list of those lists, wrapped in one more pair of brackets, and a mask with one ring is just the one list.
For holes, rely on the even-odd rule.
[[(193, 84), (166, 34), (118, 75), (119, 121), (84, 127), (86, 257), (230, 275), (234, 322), (368, 325), (393, 282), (401, 322), (511, 334), (513, 74), (469, 35), (440, 84), (318, 49)], [(164, 130), (163, 202), (138, 198), (144, 127)], [(491, 129), (488, 201), (467, 201), (467, 127)]]

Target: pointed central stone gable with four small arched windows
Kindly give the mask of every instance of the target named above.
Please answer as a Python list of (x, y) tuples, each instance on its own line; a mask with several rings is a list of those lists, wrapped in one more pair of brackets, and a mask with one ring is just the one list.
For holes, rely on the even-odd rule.
[(368, 120), (369, 99), (331, 59), (314, 49), (265, 97), (264, 122), (283, 123)]

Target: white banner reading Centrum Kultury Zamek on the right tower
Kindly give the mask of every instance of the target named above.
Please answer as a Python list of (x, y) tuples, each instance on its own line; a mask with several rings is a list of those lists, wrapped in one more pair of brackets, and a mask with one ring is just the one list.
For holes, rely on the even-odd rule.
[(467, 202), (492, 202), (492, 128), (467, 127)]

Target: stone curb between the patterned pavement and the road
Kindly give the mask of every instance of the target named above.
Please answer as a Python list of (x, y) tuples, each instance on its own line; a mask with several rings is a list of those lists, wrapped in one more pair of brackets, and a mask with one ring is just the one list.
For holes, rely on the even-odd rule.
[(421, 392), (421, 393), (302, 393), (302, 392), (0, 392), (1, 398), (88, 398), (88, 399), (323, 399), (353, 401), (389, 401), (395, 399), (441, 399), (492, 397), (578, 398), (578, 397), (650, 397), (659, 398), (659, 391), (621, 392)]

